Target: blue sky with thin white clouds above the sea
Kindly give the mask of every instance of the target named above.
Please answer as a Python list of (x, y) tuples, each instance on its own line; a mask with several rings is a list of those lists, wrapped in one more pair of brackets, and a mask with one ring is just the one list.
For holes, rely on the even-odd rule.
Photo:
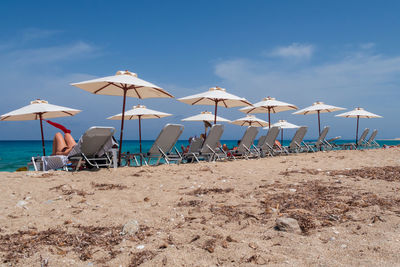
[[(93, 125), (119, 129), (105, 118), (121, 112), (120, 97), (69, 84), (127, 69), (176, 97), (221, 86), (251, 102), (273, 96), (301, 108), (315, 101), (360, 106), (384, 116), (363, 119), (361, 128), (400, 137), (399, 12), (399, 1), (2, 1), (0, 113), (42, 98), (83, 110), (54, 120), (76, 138)], [(146, 139), (165, 123), (212, 110), (168, 99), (127, 101), (138, 103), (174, 114), (144, 121)], [(243, 117), (237, 109), (219, 111)], [(278, 119), (317, 135), (315, 115), (272, 115)], [(354, 138), (354, 119), (324, 114), (322, 124), (331, 136)], [(137, 122), (126, 125), (126, 138), (137, 139)], [(183, 138), (202, 131), (199, 123), (184, 125)], [(225, 128), (225, 139), (244, 131)], [(45, 125), (46, 139), (55, 132)], [(0, 140), (39, 138), (37, 121), (0, 123)]]

